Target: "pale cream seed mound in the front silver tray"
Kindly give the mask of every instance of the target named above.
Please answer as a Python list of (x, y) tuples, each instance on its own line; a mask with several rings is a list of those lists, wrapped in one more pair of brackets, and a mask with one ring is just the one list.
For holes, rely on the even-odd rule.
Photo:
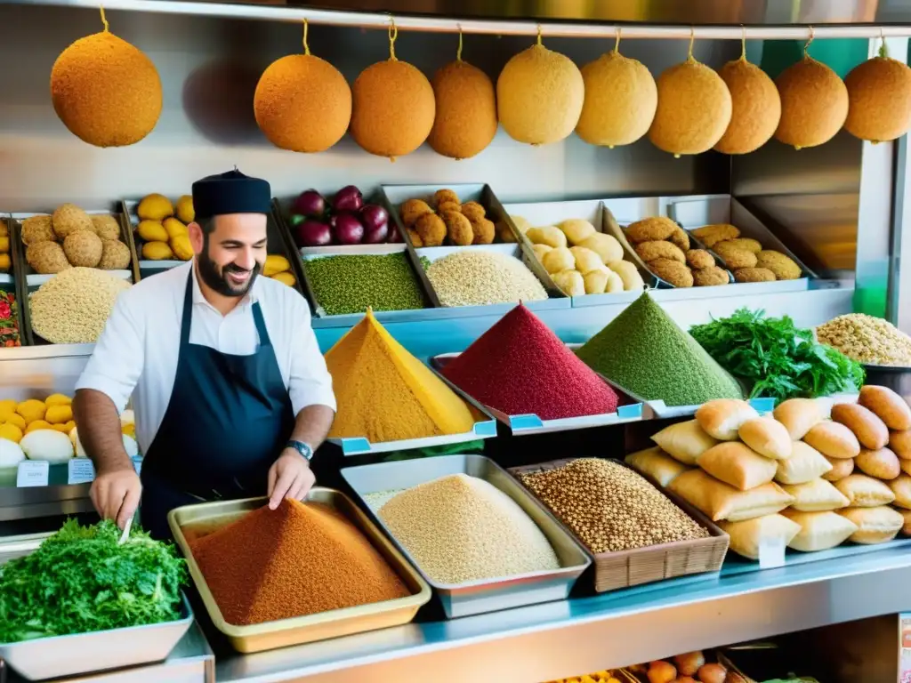
[(547, 537), (507, 494), (467, 474), (419, 484), (380, 518), (427, 576), (441, 584), (556, 570)]

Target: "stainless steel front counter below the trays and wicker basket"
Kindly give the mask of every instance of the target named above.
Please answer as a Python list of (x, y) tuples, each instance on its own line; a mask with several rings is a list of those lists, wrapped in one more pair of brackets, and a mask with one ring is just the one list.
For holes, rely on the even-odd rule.
[(602, 668), (911, 609), (911, 553), (691, 578), (241, 656), (216, 647), (216, 679), (509, 681)]

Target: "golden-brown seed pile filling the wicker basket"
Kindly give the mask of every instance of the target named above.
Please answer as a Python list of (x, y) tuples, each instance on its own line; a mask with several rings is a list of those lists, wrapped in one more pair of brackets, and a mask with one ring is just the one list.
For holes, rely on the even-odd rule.
[(596, 555), (709, 535), (667, 496), (619, 463), (581, 458), (519, 478)]

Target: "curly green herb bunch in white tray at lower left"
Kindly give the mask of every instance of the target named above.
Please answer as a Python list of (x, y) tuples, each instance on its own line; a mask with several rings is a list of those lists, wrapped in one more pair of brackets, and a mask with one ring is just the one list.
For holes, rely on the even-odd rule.
[(0, 566), (0, 643), (180, 618), (185, 562), (134, 528), (70, 519), (34, 553)]

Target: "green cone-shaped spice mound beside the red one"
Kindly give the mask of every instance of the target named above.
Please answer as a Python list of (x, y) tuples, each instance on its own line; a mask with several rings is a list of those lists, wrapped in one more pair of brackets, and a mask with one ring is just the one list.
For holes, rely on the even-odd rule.
[(577, 353), (589, 367), (649, 401), (696, 405), (743, 398), (740, 384), (647, 293)]

